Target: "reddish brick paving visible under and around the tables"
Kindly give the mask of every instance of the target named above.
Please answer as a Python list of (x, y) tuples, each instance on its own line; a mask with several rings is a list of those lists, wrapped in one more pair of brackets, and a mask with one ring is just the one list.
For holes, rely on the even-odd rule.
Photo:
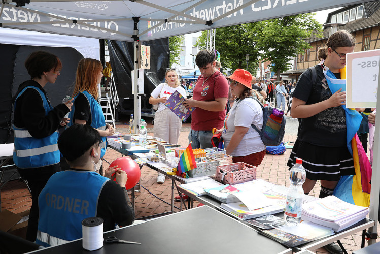
[[(127, 121), (125, 117), (121, 117), (122, 121)], [(148, 123), (148, 133), (152, 135), (153, 126), (152, 120), (150, 118), (146, 118)], [(118, 124), (117, 131), (121, 133), (125, 133), (126, 131), (125, 124)], [(187, 135), (189, 133), (190, 124), (183, 124), (182, 132), (180, 135), (179, 144), (182, 146), (186, 146), (188, 144)], [(296, 136), (286, 134), (284, 141), (295, 141)], [(283, 155), (270, 155), (266, 154), (262, 164), (258, 167), (257, 177), (267, 180), (269, 182), (286, 185), (289, 186), (288, 182), (288, 169), (286, 167), (287, 158), (289, 158), (290, 149), (287, 149), (285, 154)], [(103, 167), (108, 167), (108, 163), (111, 163), (116, 158), (120, 157), (120, 153), (108, 149), (105, 155), (105, 162)], [(107, 162), (106, 162), (107, 161)], [(136, 218), (141, 218), (149, 215), (154, 215), (158, 213), (162, 213), (165, 211), (170, 211), (170, 202), (171, 202), (171, 181), (166, 178), (165, 183), (158, 184), (156, 183), (157, 172), (144, 166), (141, 172), (141, 192), (136, 193), (135, 199), (135, 211)], [(149, 192), (148, 192), (149, 190)], [(320, 185), (317, 182), (315, 188), (310, 192), (309, 195), (318, 196), (320, 192)], [(158, 198), (155, 198), (154, 195), (166, 201), (168, 204), (163, 203)], [(21, 181), (11, 181), (9, 182), (4, 189), (2, 189), (1, 194), (2, 201), (2, 209), (8, 209), (13, 212), (22, 212), (30, 209), (31, 199), (30, 194), (28, 193), (25, 185)], [(195, 206), (198, 203), (195, 202)], [(179, 202), (175, 202), (175, 205), (179, 207)], [(175, 208), (175, 211), (179, 209)], [(358, 234), (346, 237), (341, 239), (344, 247), (351, 253), (354, 250), (360, 248), (360, 240), (361, 240), (361, 232)], [(316, 251), (316, 253), (327, 253), (324, 248), (320, 248)]]

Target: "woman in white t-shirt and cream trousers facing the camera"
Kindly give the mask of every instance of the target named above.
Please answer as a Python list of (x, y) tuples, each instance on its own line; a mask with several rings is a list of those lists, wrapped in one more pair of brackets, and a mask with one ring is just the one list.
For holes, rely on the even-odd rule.
[[(153, 136), (161, 138), (170, 144), (178, 144), (181, 133), (181, 119), (165, 106), (168, 97), (178, 91), (186, 98), (186, 91), (180, 86), (180, 81), (175, 70), (168, 69), (165, 73), (165, 83), (157, 85), (149, 98), (150, 104), (157, 104), (158, 109), (154, 115)], [(157, 183), (165, 182), (165, 175), (158, 173)]]

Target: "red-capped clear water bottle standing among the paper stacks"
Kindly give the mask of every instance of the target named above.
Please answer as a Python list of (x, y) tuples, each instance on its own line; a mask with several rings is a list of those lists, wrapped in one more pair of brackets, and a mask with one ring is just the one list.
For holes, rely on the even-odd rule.
[(288, 225), (298, 224), (301, 221), (303, 189), (306, 180), (306, 171), (302, 160), (297, 158), (296, 165), (290, 169), (290, 187), (286, 196), (285, 222)]

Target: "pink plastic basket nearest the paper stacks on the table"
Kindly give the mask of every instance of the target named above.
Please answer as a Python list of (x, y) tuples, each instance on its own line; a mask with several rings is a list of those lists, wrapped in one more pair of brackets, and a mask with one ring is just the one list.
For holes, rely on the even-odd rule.
[(256, 179), (256, 167), (244, 162), (217, 166), (215, 178), (224, 184), (251, 181)]

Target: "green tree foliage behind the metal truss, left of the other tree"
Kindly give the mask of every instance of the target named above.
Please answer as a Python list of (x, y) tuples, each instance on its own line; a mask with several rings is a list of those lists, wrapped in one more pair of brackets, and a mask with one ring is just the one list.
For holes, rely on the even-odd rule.
[[(241, 24), (216, 29), (215, 49), (220, 53), (220, 61), (223, 68), (230, 68), (234, 71), (237, 68), (246, 69), (246, 57), (251, 55), (248, 62), (248, 71), (256, 74), (258, 67), (259, 49), (256, 47), (257, 40), (253, 33), (256, 23)], [(198, 37), (196, 47), (206, 48), (207, 31), (203, 31)]]

